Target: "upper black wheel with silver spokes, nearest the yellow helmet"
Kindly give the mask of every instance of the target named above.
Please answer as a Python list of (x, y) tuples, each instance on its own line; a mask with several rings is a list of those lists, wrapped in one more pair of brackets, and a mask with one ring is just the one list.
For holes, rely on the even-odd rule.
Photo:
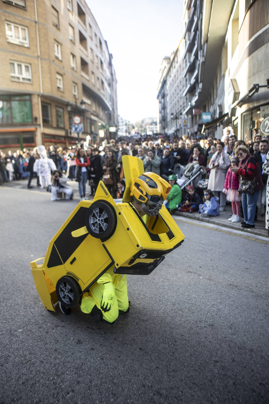
[(115, 209), (106, 202), (94, 202), (85, 215), (85, 226), (92, 237), (109, 238), (116, 228)]

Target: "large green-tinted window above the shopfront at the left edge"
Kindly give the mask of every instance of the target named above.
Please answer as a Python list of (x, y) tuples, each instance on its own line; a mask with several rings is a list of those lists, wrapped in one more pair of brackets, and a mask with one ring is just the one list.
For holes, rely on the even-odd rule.
[(0, 95), (0, 124), (33, 122), (30, 95)]

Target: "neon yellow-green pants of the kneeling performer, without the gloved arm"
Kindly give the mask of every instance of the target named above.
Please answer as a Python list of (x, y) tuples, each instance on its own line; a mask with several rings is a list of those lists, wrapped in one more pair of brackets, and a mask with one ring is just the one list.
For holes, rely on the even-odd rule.
[(85, 292), (82, 296), (81, 300), (81, 311), (83, 313), (90, 314), (94, 306), (96, 305), (98, 309), (102, 311), (103, 320), (108, 321), (109, 323), (113, 323), (118, 316), (119, 310), (127, 311), (129, 307), (128, 295), (127, 295), (127, 283), (126, 283), (126, 275), (114, 274), (113, 268), (108, 269), (107, 271), (113, 280), (113, 284), (115, 286), (115, 294), (116, 298), (114, 300), (114, 304), (109, 311), (102, 311), (100, 307), (100, 303), (102, 301), (102, 295), (104, 286), (95, 282), (89, 289), (89, 292)]

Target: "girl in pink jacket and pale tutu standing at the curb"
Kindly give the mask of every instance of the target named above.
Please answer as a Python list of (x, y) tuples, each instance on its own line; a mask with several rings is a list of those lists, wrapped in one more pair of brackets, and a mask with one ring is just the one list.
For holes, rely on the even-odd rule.
[[(237, 167), (239, 163), (238, 157), (231, 156), (231, 167)], [(228, 219), (229, 222), (238, 223), (240, 222), (240, 200), (241, 195), (238, 194), (239, 180), (238, 176), (231, 171), (231, 167), (228, 169), (223, 193), (226, 194), (227, 201), (231, 202), (231, 208), (233, 210), (233, 215)]]

